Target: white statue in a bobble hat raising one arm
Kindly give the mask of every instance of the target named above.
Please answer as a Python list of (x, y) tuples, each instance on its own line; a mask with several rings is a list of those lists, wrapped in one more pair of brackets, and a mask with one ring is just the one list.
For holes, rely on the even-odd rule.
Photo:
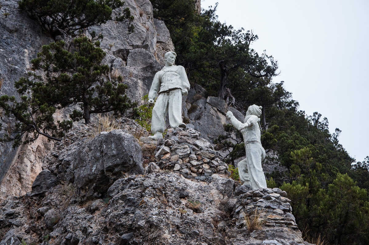
[(261, 161), (265, 159), (265, 150), (261, 145), (258, 124), (261, 109), (262, 106), (249, 106), (244, 123), (237, 120), (230, 111), (226, 115), (244, 137), (246, 158), (238, 163), (238, 174), (242, 185), (250, 185), (252, 189), (266, 188), (265, 175), (261, 166)]

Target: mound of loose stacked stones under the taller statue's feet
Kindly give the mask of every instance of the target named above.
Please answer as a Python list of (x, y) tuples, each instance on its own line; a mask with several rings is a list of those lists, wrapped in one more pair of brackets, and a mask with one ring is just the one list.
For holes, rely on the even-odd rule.
[(227, 164), (214, 146), (191, 129), (169, 129), (164, 139), (157, 141), (156, 164), (164, 170), (173, 170), (185, 178), (212, 181), (213, 174), (229, 175)]

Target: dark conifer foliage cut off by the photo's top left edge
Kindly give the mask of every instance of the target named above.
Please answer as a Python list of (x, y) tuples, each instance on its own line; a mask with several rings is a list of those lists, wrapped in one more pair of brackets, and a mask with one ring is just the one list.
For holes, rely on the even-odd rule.
[[(37, 21), (52, 38), (57, 35), (75, 35), (79, 30), (111, 20), (113, 10), (121, 8), (120, 0), (20, 0), (19, 8)], [(133, 16), (124, 8), (115, 20), (129, 22), (133, 31)]]

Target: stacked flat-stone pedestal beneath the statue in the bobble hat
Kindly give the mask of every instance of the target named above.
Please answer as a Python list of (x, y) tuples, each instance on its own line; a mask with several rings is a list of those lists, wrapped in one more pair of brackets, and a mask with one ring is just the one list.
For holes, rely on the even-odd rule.
[[(286, 192), (278, 188), (250, 189), (238, 186), (234, 192), (238, 196), (227, 231), (227, 244), (261, 244), (261, 239), (262, 244), (309, 244), (301, 238)], [(248, 226), (253, 222), (259, 222), (259, 227), (256, 225), (251, 231)]]

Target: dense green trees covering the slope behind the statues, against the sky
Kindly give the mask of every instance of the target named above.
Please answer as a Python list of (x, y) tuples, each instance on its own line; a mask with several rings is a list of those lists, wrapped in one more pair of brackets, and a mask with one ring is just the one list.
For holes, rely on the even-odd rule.
[[(193, 0), (151, 2), (154, 17), (170, 31), (176, 63), (186, 67), (190, 81), (240, 111), (263, 106), (262, 144), (277, 155), (269, 162), (279, 161), (285, 169), (268, 175), (268, 184), (288, 193), (303, 235), (325, 244), (368, 244), (369, 158), (352, 165), (355, 160), (338, 142), (341, 131), (330, 134), (327, 118), (299, 110), (283, 81), (273, 80), (277, 62), (250, 48), (257, 35), (219, 22), (216, 6), (197, 14)], [(233, 149), (230, 163), (244, 154), (242, 144), (227, 141), (227, 136), (217, 142)]]

